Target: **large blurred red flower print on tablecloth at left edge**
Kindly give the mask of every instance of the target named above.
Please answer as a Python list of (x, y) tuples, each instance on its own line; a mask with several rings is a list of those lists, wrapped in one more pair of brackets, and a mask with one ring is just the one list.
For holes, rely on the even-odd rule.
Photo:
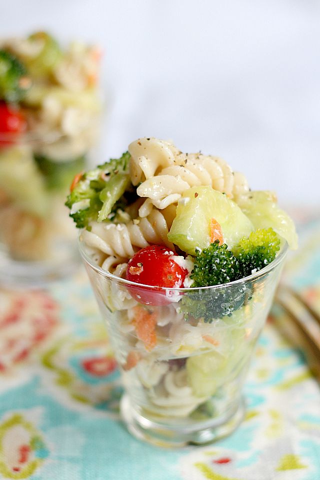
[(0, 290), (0, 373), (29, 357), (59, 322), (59, 306), (44, 291)]

